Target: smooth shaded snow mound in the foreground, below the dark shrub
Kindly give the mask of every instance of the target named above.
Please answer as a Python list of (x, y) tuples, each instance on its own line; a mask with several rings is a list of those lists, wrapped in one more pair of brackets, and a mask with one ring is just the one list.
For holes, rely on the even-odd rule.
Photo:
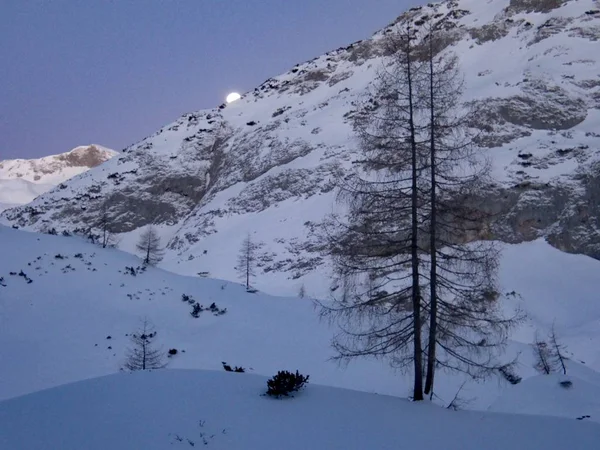
[(600, 425), (449, 411), (309, 384), (263, 397), (266, 378), (162, 370), (0, 402), (3, 450), (592, 450)]

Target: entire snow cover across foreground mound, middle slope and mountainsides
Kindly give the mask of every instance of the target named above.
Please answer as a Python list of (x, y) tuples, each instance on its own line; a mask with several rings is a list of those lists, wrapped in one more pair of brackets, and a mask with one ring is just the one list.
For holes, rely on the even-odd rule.
[[(471, 13), (457, 20), (466, 30), (494, 19), (503, 22), (502, 11), (508, 4), (508, 0), (460, 0), (435, 8), (444, 13), (452, 5), (468, 9)], [(597, 43), (568, 32), (592, 20), (583, 12), (594, 7), (591, 0), (579, 0), (549, 14), (515, 15), (515, 20), (525, 19), (534, 26), (515, 25), (507, 37), (481, 45), (465, 32), (453, 47), (465, 71), (465, 100), (521, 95), (523, 79), (531, 77), (560, 86), (569, 98), (591, 101), (590, 92), (569, 77), (597, 78), (597, 61), (590, 59), (595, 58)], [(431, 13), (429, 7), (419, 15), (426, 13)], [(536, 27), (554, 16), (568, 17), (573, 23), (558, 35), (530, 44)], [(163, 243), (180, 239), (181, 245), (168, 249), (159, 268), (135, 277), (125, 273), (125, 267), (140, 265), (131, 253), (143, 228), (119, 236), (120, 249), (130, 252), (125, 253), (77, 237), (0, 226), (0, 277), (6, 284), (0, 286), (2, 450), (187, 448), (190, 444), (175, 436), (194, 437), (201, 445), (199, 420), (206, 420), (207, 433), (215, 434), (208, 445), (229, 450), (398, 448), (401, 444), (425, 450), (597, 447), (598, 425), (588, 422), (600, 422), (596, 400), (600, 396), (600, 262), (563, 253), (543, 238), (498, 244), (505, 294), (501, 301), (507, 313), (520, 308), (526, 314), (511, 334), (505, 354), (507, 360), (518, 357), (515, 370), (523, 381), (516, 386), (501, 377), (468, 382), (461, 397), (467, 408), (478, 412), (439, 408), (463, 384), (459, 375), (440, 373), (434, 404), (414, 405), (401, 399), (410, 395), (410, 377), (394, 372), (385, 361), (363, 359), (347, 367), (330, 361), (331, 338), (338, 330), (319, 320), (311, 299), (327, 301), (330, 295), (329, 261), (318, 260), (312, 269), (303, 267), (320, 256), (306, 250), (311, 226), (335, 208), (334, 191), (310, 189), (330, 180), (328, 164), (350, 166), (356, 143), (345, 115), (354, 109), (381, 62), (378, 57), (351, 62), (349, 52), (341, 49), (300, 64), (265, 85), (274, 87), (246, 93), (222, 110), (183, 116), (101, 167), (70, 179), (65, 189), (33, 200), (31, 206), (39, 213), (31, 215), (34, 219), (27, 213), (21, 217), (29, 230), (73, 229), (84, 216), (73, 204), (89, 208), (88, 212), (97, 210), (97, 202), (86, 200), (90, 192), (97, 198), (127, 193), (133, 204), (138, 198), (160, 197), (160, 205), (166, 203), (177, 213), (157, 225), (158, 233)], [(295, 90), (310, 86), (305, 81), (294, 84), (305, 73), (329, 70), (330, 64), (330, 75), (349, 73), (348, 78), (333, 85), (318, 83), (305, 93)], [(275, 117), (275, 112), (287, 107)], [(250, 121), (257, 125), (248, 126)], [(213, 143), (211, 133), (223, 124), (233, 132), (219, 149), (225, 158), (233, 155), (226, 159), (229, 166), (222, 167), (230, 170), (226, 176), (211, 171), (215, 161), (202, 153)], [(590, 106), (586, 119), (568, 132), (531, 129), (529, 136), (484, 151), (493, 161), (495, 179), (504, 187), (526, 179), (577, 189), (581, 188), (577, 174), (600, 160), (598, 138), (587, 134), (596, 132), (598, 124), (600, 112)], [(267, 127), (273, 128), (264, 131)], [(298, 142), (310, 151), (282, 156)], [(277, 143), (280, 147), (271, 146)], [(556, 156), (557, 149), (578, 146), (589, 150), (577, 157)], [(518, 157), (522, 152), (531, 153), (536, 164), (524, 167)], [(27, 166), (23, 164), (19, 166)], [(73, 175), (67, 172), (51, 176)], [(290, 178), (297, 188), (293, 192), (285, 189), (285, 176), (290, 173), (301, 174), (299, 180)], [(109, 178), (113, 174), (123, 179), (116, 182)], [(163, 187), (156, 184), (157, 178), (177, 181), (186, 176), (211, 190), (195, 203), (173, 191), (156, 193)], [(15, 199), (28, 201), (25, 196), (40, 188), (30, 186), (32, 177), (33, 172), (27, 172), (19, 180), (0, 180), (0, 208)], [(278, 177), (284, 177), (283, 182), (278, 183)], [(65, 210), (75, 212), (62, 215)], [(8, 220), (9, 214), (2, 216), (3, 223), (16, 223), (17, 219)], [(91, 222), (93, 217), (85, 220)], [(236, 257), (247, 233), (261, 244), (265, 261), (253, 280), (259, 289), (255, 294), (232, 282), (237, 279)], [(18, 275), (21, 270), (32, 283)], [(208, 272), (210, 278), (198, 277), (199, 272)], [(296, 298), (301, 288), (307, 298)], [(515, 295), (506, 295), (512, 292)], [(182, 294), (204, 306), (215, 302), (227, 313), (205, 312), (194, 319)], [(126, 335), (144, 317), (156, 326), (159, 345), (165, 350), (177, 348), (179, 353), (169, 359), (166, 371), (116, 374), (129, 345)], [(540, 376), (534, 369), (533, 337), (536, 332), (545, 337), (553, 326), (570, 359), (567, 377), (573, 386), (568, 390), (559, 385), (563, 376)], [(222, 361), (246, 367), (249, 373), (222, 373)], [(260, 397), (264, 377), (279, 369), (310, 374), (309, 388), (291, 401)], [(73, 382), (78, 383), (61, 386)], [(61, 387), (34, 393), (56, 386)], [(24, 394), (31, 395), (19, 397)], [(481, 412), (488, 409), (509, 415)], [(584, 415), (590, 417), (575, 420)], [(431, 423), (436, 427), (433, 434), (425, 432)], [(221, 433), (223, 429), (227, 432)]]

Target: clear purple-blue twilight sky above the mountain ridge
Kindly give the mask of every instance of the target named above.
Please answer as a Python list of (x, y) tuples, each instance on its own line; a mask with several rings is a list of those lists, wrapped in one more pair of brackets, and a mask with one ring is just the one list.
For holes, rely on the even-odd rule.
[(0, 160), (121, 150), (424, 0), (0, 0)]

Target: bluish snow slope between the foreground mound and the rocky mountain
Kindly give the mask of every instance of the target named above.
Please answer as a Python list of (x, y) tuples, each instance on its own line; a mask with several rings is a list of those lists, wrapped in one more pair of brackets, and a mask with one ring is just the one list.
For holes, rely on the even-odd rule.
[[(571, 357), (569, 375), (600, 387), (595, 289), (600, 262), (560, 252), (543, 240), (503, 247), (503, 292), (521, 294), (506, 296), (506, 310), (518, 306), (528, 315), (505, 355), (507, 360), (518, 355), (517, 375), (524, 380), (537, 375), (529, 344), (536, 331), (543, 336), (554, 323)], [(0, 399), (119, 371), (127, 335), (144, 317), (155, 324), (165, 351), (178, 349), (170, 368), (221, 370), (226, 361), (265, 376), (299, 369), (317, 384), (410, 394), (410, 377), (385, 361), (358, 360), (347, 368), (329, 361), (337, 329), (319, 320), (308, 298), (249, 294), (238, 284), (155, 268), (133, 276), (126, 268), (140, 265), (135, 256), (77, 237), (0, 226), (0, 249)], [(183, 294), (227, 312), (205, 311), (195, 319)], [(435, 402), (447, 405), (463, 381), (440, 373)], [(461, 397), (469, 408), (487, 409), (518, 387), (498, 375), (467, 383)], [(569, 405), (572, 411), (577, 402)], [(600, 422), (596, 413), (583, 408), (580, 414)]]

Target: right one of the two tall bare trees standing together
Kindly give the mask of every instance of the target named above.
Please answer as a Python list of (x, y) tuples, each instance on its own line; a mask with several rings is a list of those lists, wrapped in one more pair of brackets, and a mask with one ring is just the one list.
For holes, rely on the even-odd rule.
[(472, 242), (488, 218), (477, 201), (490, 185), (490, 164), (472, 144), (469, 123), (476, 111), (461, 105), (463, 79), (458, 58), (442, 52), (444, 37), (429, 24), (420, 47), (425, 63), (421, 90), (427, 117), (429, 284), (425, 393), (433, 394), (437, 367), (479, 378), (506, 369), (499, 357), (517, 312), (499, 308), (498, 251)]

